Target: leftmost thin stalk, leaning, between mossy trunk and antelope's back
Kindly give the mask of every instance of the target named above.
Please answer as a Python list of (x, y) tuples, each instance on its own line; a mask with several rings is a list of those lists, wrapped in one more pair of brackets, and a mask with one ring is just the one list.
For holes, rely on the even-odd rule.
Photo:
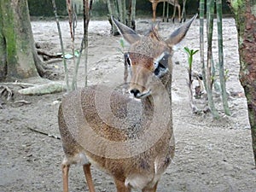
[(60, 42), (61, 42), (61, 54), (63, 55), (62, 58), (63, 58), (63, 65), (64, 65), (64, 71), (65, 71), (65, 81), (67, 84), (67, 91), (69, 91), (70, 87), (69, 87), (69, 82), (68, 82), (67, 62), (66, 62), (66, 58), (65, 58), (63, 40), (62, 40), (62, 35), (61, 35), (61, 26), (60, 26), (60, 22), (59, 22), (59, 16), (57, 15), (57, 8), (56, 8), (55, 0), (52, 0), (51, 2), (52, 2), (53, 9), (54, 9), (55, 20), (56, 20), (59, 38), (60, 38)]

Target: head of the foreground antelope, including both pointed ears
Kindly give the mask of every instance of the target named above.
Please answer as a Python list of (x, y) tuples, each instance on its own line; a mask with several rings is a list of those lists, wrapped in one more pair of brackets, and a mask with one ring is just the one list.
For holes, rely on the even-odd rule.
[(185, 37), (196, 16), (177, 28), (166, 40), (160, 38), (158, 25), (152, 26), (146, 36), (140, 37), (131, 28), (112, 18), (119, 33), (130, 44), (130, 49), (125, 53), (125, 62), (131, 69), (129, 90), (133, 96), (143, 98), (161, 94), (160, 84), (171, 84), (172, 48)]

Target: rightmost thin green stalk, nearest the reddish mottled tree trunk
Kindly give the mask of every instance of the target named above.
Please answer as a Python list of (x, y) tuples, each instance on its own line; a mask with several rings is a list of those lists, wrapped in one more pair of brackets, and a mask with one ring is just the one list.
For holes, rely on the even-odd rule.
[(223, 35), (222, 35), (222, 0), (216, 0), (217, 25), (218, 25), (218, 73), (224, 113), (230, 115), (226, 82), (224, 77)]

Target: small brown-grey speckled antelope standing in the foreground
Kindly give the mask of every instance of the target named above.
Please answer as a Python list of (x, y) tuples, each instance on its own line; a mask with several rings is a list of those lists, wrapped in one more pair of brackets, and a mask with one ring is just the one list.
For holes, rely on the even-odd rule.
[(68, 191), (68, 171), (82, 165), (90, 192), (95, 192), (90, 164), (108, 172), (118, 192), (140, 189), (155, 192), (160, 176), (175, 151), (172, 129), (172, 47), (179, 43), (196, 15), (166, 40), (157, 26), (140, 37), (113, 18), (123, 38), (131, 44), (125, 62), (131, 70), (129, 90), (94, 85), (63, 96), (59, 129), (65, 152), (63, 190)]

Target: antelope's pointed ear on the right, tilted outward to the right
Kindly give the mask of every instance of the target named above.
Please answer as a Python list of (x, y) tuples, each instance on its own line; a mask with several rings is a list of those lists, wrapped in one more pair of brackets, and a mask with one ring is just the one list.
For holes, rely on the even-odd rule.
[(184, 23), (182, 26), (178, 27), (168, 39), (166, 39), (166, 44), (169, 47), (172, 47), (175, 44), (178, 44), (183, 40), (185, 37), (186, 33), (189, 31), (189, 27), (191, 26), (192, 22), (195, 20), (197, 17), (197, 14), (192, 17), (188, 22)]

